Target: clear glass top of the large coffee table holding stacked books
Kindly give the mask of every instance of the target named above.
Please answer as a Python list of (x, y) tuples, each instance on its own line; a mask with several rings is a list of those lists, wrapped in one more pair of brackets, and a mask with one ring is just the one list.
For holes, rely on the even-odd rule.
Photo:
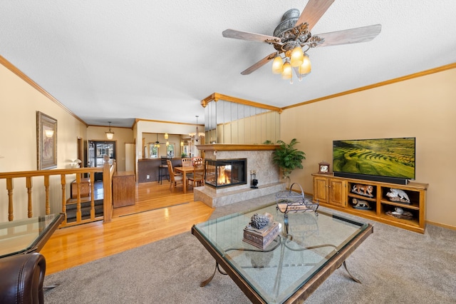
[[(281, 225), (280, 235), (264, 250), (242, 240), (254, 213), (270, 213)], [(266, 303), (282, 303), (368, 228), (367, 223), (321, 211), (288, 217), (289, 235), (276, 204), (199, 223), (195, 229)]]

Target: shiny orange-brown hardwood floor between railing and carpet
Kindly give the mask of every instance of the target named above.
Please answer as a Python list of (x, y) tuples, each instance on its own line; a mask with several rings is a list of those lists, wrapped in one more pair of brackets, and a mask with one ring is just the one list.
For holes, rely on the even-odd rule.
[(41, 253), (46, 258), (46, 275), (91, 260), (152, 243), (207, 221), (214, 209), (193, 201), (193, 191), (175, 190), (164, 181), (139, 183), (135, 205), (114, 208), (113, 221), (56, 230)]

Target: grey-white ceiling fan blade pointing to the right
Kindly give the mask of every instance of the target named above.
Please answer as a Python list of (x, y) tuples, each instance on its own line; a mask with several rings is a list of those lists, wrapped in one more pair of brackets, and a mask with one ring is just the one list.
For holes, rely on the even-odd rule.
[(345, 29), (343, 31), (331, 31), (329, 33), (316, 34), (325, 39), (323, 44), (318, 46), (337, 46), (340, 44), (358, 44), (374, 39), (382, 30), (381, 24), (358, 27), (356, 29)]

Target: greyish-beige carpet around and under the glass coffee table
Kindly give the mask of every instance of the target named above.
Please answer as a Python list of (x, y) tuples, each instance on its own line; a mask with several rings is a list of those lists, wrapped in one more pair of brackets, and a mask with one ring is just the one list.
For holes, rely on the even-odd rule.
[[(217, 208), (214, 217), (268, 198)], [(328, 209), (322, 208), (329, 211)], [(358, 221), (363, 218), (348, 216)], [(306, 303), (456, 303), (456, 231), (427, 226), (425, 234), (367, 221), (373, 235)], [(46, 303), (249, 303), (227, 275), (209, 285), (214, 260), (188, 233), (46, 276)]]

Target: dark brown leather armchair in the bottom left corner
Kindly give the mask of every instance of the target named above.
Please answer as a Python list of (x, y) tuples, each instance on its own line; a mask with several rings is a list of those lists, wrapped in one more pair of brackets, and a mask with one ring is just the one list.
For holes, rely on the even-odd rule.
[(0, 258), (0, 303), (44, 303), (46, 260), (40, 253)]

